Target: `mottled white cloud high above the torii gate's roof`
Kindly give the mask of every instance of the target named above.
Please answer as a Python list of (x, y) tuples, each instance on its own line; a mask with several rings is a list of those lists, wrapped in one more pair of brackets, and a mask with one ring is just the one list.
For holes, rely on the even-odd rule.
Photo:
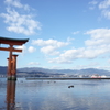
[(1, 13), (0, 15), (6, 19), (4, 23), (9, 25), (7, 30), (10, 32), (32, 35), (35, 30), (41, 30), (40, 22), (33, 20), (31, 14), (19, 14), (15, 10), (8, 8), (7, 13)]

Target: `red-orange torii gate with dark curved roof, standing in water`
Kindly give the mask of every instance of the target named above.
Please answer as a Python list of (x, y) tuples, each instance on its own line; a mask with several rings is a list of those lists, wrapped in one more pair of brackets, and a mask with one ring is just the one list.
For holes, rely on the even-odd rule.
[(14, 45), (23, 45), (29, 41), (29, 38), (20, 40), (20, 38), (9, 38), (0, 36), (0, 44), (8, 44), (9, 47), (0, 47), (0, 51), (9, 51), (8, 59), (8, 79), (16, 80), (16, 56), (13, 55), (12, 52), (22, 52), (22, 50), (14, 48)]

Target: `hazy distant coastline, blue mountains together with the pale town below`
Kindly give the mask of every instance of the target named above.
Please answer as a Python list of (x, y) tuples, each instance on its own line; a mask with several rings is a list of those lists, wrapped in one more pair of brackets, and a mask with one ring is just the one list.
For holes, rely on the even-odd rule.
[[(109, 70), (87, 68), (87, 69), (47, 69), (40, 67), (18, 68), (18, 77), (90, 77), (90, 75), (110, 76)], [(7, 75), (7, 66), (0, 66), (0, 75)]]

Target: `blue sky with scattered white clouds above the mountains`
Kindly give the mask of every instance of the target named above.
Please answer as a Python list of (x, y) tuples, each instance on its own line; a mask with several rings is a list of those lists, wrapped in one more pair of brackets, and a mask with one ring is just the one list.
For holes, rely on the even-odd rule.
[(30, 38), (18, 68), (110, 70), (110, 0), (1, 0), (0, 36)]

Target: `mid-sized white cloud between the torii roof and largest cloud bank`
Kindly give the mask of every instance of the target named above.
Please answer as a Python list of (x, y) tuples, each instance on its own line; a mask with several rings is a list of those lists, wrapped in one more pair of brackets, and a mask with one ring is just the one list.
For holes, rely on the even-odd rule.
[(63, 46), (66, 46), (69, 44), (69, 42), (58, 42), (57, 40), (33, 40), (32, 41), (33, 45), (37, 45), (37, 46), (42, 46), (41, 52), (43, 52), (44, 54), (48, 54), (48, 55), (58, 55), (59, 52), (57, 51), (57, 48), (61, 48)]

